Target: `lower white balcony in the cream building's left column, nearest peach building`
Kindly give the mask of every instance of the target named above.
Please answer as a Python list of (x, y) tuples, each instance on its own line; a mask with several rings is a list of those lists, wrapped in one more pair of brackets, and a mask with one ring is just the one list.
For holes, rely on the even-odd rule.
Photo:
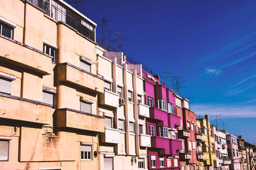
[(105, 127), (105, 133), (100, 134), (101, 143), (120, 143), (120, 131), (118, 129), (111, 129)]

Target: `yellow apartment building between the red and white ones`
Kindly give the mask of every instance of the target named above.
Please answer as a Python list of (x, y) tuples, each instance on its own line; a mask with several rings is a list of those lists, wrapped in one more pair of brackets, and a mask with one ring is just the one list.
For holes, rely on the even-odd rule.
[[(205, 115), (205, 118), (198, 119), (198, 127), (201, 129), (202, 133), (202, 149), (204, 159), (200, 160), (201, 169), (214, 169), (214, 162), (216, 162), (216, 150), (215, 150), (215, 139), (214, 132), (210, 125), (208, 115)], [(204, 166), (204, 167), (203, 167)]]

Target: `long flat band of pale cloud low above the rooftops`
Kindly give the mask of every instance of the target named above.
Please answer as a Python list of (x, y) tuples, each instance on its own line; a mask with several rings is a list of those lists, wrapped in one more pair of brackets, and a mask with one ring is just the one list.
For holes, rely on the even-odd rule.
[(256, 117), (256, 106), (239, 104), (193, 104), (196, 115), (221, 115), (221, 117)]

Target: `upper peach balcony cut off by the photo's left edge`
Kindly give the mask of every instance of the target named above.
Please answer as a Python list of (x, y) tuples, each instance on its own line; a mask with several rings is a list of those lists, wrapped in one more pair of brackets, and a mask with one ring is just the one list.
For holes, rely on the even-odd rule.
[(4, 45), (4, 48), (0, 48), (1, 62), (8, 62), (43, 75), (51, 74), (52, 58), (50, 55), (2, 35), (0, 35), (0, 44)]

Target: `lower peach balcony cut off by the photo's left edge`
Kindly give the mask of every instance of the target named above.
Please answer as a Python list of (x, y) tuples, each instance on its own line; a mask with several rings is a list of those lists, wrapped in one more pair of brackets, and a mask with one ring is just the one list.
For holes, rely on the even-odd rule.
[(50, 104), (32, 101), (20, 97), (0, 93), (0, 118), (33, 122), (36, 124), (51, 124), (54, 109)]

